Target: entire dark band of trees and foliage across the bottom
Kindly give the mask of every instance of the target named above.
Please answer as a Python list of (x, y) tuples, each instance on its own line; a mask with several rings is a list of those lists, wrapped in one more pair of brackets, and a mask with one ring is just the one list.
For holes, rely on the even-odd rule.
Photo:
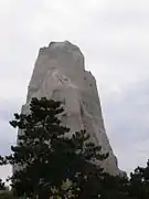
[(102, 147), (89, 142), (85, 130), (70, 135), (62, 125), (60, 102), (33, 98), (29, 114), (14, 114), (19, 128), (17, 146), (0, 165), (10, 164), (12, 191), (0, 180), (0, 199), (149, 199), (149, 161), (127, 177), (109, 176), (95, 163), (104, 160)]

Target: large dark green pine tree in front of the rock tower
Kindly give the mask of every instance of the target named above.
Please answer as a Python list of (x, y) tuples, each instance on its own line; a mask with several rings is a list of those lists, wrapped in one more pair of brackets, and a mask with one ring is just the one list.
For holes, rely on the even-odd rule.
[(64, 198), (62, 187), (67, 180), (73, 185), (72, 197), (89, 199), (99, 195), (95, 179), (103, 169), (94, 163), (108, 155), (89, 142), (85, 130), (70, 136), (70, 129), (61, 124), (63, 112), (60, 102), (43, 97), (32, 98), (29, 114), (14, 114), (10, 124), (21, 130), (19, 143), (11, 147), (10, 156), (0, 157), (1, 165), (15, 168), (10, 178), (14, 195), (46, 199), (55, 196), (54, 189)]

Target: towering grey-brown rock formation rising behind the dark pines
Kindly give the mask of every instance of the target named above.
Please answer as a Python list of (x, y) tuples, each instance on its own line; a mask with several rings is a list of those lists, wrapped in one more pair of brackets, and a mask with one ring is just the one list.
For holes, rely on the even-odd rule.
[(42, 96), (64, 104), (63, 123), (71, 133), (86, 129), (91, 139), (109, 153), (102, 164), (105, 170), (118, 175), (117, 159), (104, 127), (96, 80), (85, 71), (84, 55), (76, 45), (67, 41), (51, 42), (40, 50), (22, 112), (28, 112), (32, 97)]

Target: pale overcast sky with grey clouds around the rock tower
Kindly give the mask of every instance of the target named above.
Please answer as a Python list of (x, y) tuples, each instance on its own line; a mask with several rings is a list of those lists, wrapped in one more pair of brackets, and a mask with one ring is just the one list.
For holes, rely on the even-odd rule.
[[(149, 158), (149, 1), (0, 0), (0, 154), (10, 151), (13, 112), (25, 101), (39, 49), (70, 40), (97, 80), (119, 167)], [(0, 169), (0, 177), (10, 174)]]

